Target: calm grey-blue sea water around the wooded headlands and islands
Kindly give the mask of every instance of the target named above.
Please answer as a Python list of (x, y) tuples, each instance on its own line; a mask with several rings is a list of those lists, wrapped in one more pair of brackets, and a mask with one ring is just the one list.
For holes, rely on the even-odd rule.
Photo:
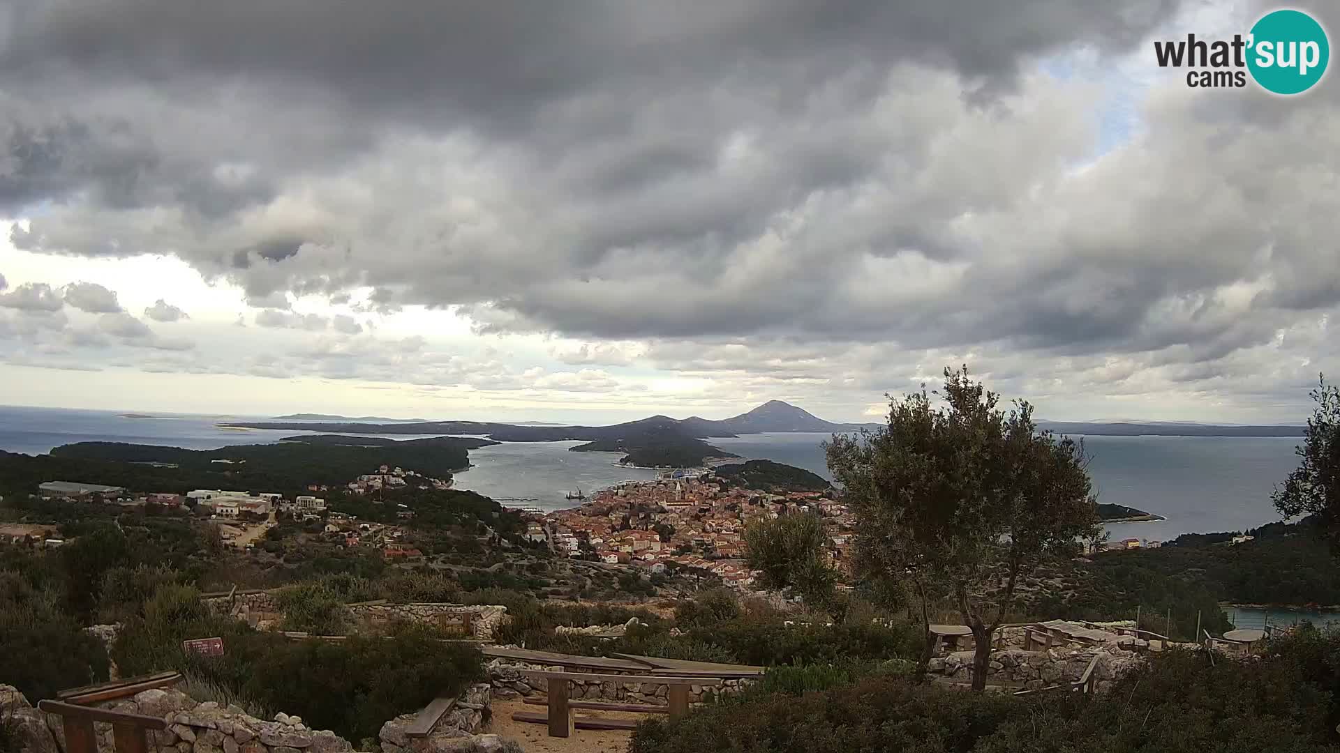
[[(68, 442), (107, 441), (213, 449), (268, 443), (288, 430), (224, 430), (216, 423), (265, 417), (154, 414), (0, 407), (0, 450), (46, 453)], [(403, 435), (401, 435), (403, 438)], [(712, 439), (745, 458), (765, 458), (829, 477), (820, 443), (828, 434), (750, 434)], [(1297, 465), (1297, 438), (1085, 437), (1099, 501), (1158, 513), (1167, 520), (1111, 525), (1114, 537), (1166, 540), (1178, 533), (1241, 531), (1278, 519), (1270, 490)], [(614, 453), (571, 453), (578, 442), (507, 442), (470, 452), (457, 486), (494, 498), (535, 500), (544, 509), (571, 505), (567, 490), (586, 492), (653, 472), (620, 468)]]

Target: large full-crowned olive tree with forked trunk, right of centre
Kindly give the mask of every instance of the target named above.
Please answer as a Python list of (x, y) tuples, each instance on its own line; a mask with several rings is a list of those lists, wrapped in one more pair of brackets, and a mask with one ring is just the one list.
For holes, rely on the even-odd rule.
[(947, 596), (976, 643), (973, 687), (1021, 573), (1099, 536), (1081, 443), (1040, 430), (1033, 407), (945, 370), (943, 391), (890, 399), (888, 425), (827, 443), (856, 519), (858, 572), (898, 580), (921, 603)]

